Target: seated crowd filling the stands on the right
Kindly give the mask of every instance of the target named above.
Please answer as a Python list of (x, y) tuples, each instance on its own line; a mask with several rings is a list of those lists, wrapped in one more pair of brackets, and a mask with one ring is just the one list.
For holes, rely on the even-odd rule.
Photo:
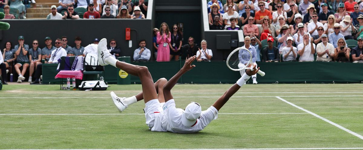
[(209, 29), (243, 30), (256, 62), (363, 63), (361, 0), (210, 0), (207, 7)]

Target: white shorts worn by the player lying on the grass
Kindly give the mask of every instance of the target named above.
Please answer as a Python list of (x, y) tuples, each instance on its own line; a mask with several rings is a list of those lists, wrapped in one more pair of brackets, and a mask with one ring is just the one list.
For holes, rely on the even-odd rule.
[(166, 119), (164, 117), (163, 105), (158, 99), (150, 100), (145, 103), (146, 125), (151, 131), (166, 132)]

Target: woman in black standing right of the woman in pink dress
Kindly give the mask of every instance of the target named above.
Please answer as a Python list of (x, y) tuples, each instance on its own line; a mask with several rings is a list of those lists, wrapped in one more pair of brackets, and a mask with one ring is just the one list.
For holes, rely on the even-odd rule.
[(179, 60), (179, 56), (181, 55), (181, 45), (182, 45), (182, 35), (180, 33), (178, 25), (173, 25), (173, 33), (171, 34), (171, 42), (170, 46), (170, 60), (175, 57), (175, 60)]

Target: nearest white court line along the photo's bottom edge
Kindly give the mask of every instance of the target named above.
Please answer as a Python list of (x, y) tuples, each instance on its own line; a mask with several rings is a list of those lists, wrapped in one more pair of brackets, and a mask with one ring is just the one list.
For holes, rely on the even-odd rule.
[(363, 147), (261, 148), (261, 149), (4, 149), (4, 150), (360, 150)]

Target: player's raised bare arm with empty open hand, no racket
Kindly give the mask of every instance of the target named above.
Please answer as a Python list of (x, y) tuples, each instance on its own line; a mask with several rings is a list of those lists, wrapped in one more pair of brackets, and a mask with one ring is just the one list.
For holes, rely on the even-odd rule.
[(185, 63), (184, 66), (178, 71), (178, 73), (176, 73), (165, 85), (163, 88), (163, 92), (164, 92), (164, 99), (165, 102), (167, 102), (168, 100), (174, 99), (173, 96), (171, 95), (171, 89), (175, 86), (176, 82), (178, 82), (179, 78), (185, 74), (185, 72), (188, 72), (189, 70), (191, 70), (192, 68), (195, 67), (195, 65), (191, 65), (192, 62), (195, 60), (195, 56), (188, 58)]

